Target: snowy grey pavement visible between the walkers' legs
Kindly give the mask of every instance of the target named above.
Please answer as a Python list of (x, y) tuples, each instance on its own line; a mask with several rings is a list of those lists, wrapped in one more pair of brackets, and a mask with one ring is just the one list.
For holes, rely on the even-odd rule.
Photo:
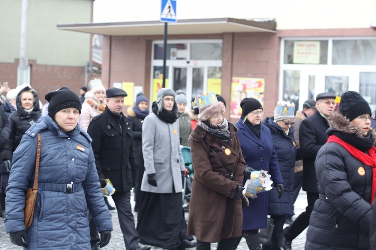
[[(134, 207), (134, 202), (133, 202), (133, 192), (132, 193), (132, 207)], [(114, 205), (112, 199), (109, 199), (110, 204)], [(305, 207), (307, 206), (307, 198), (306, 198), (306, 193), (304, 191), (300, 191), (298, 199), (296, 200), (295, 203), (295, 213), (294, 218), (296, 218), (301, 212), (305, 210)], [(124, 239), (123, 235), (120, 230), (120, 225), (119, 225), (119, 220), (117, 217), (117, 212), (116, 210), (110, 211), (112, 215), (112, 223), (113, 223), (113, 232), (111, 234), (111, 240), (110, 243), (103, 247), (103, 250), (109, 250), (109, 249), (114, 249), (114, 250), (122, 250), (125, 249), (124, 245)], [(136, 223), (137, 223), (137, 213), (133, 212)], [(185, 213), (185, 219), (187, 220), (188, 214)], [(287, 226), (287, 225), (285, 225)], [(293, 250), (301, 250), (304, 249), (304, 244), (305, 244), (305, 235), (306, 235), (306, 230), (301, 233), (292, 243), (292, 249)], [(212, 249), (216, 249), (217, 245), (212, 244)], [(15, 250), (22, 250), (22, 247), (18, 247), (14, 244), (11, 243), (11, 240), (9, 238), (9, 235), (5, 233), (5, 226), (4, 226), (4, 219), (0, 219), (0, 249), (15, 249)], [(158, 247), (151, 247), (153, 250), (160, 250), (162, 248)], [(193, 248), (191, 248), (193, 249)], [(240, 242), (238, 248), (239, 250), (248, 250), (247, 243), (245, 239), (243, 238), (242, 241)]]

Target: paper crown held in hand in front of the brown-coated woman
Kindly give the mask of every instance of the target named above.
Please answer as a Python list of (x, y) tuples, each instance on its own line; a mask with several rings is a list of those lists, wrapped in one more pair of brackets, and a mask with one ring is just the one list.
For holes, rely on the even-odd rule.
[(243, 193), (252, 199), (257, 198), (257, 193), (271, 190), (273, 181), (270, 180), (270, 174), (265, 170), (252, 171), (251, 178), (246, 181), (246, 188)]

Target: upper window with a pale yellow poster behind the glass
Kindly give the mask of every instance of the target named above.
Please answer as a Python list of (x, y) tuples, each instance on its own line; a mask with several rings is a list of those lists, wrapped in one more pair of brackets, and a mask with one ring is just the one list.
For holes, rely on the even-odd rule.
[(285, 64), (327, 64), (328, 41), (285, 41)]

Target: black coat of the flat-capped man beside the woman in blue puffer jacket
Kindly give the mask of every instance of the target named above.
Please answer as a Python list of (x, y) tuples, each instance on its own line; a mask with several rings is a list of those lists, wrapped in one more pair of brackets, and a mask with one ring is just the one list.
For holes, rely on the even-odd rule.
[(102, 114), (94, 117), (87, 132), (93, 139), (92, 147), (99, 178), (109, 178), (116, 192), (126, 192), (132, 189), (132, 180), (137, 175), (132, 126), (129, 119), (121, 113), (120, 130), (110, 112), (106, 107)]

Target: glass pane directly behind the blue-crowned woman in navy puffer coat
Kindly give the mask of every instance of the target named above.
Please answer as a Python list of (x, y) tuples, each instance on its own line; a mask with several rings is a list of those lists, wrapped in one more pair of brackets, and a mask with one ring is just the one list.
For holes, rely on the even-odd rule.
[(295, 103), (295, 112), (299, 107), (300, 71), (285, 70), (283, 72), (283, 100)]

